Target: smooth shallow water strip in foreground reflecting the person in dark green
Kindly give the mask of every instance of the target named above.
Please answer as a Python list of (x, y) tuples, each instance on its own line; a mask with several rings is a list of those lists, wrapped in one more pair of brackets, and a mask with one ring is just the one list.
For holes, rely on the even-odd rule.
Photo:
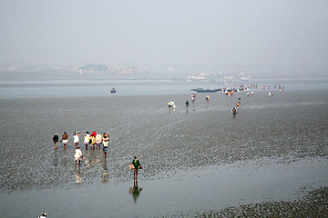
[[(308, 190), (328, 185), (327, 160), (307, 158), (290, 164), (237, 162), (180, 172), (167, 179), (114, 183), (97, 175), (97, 185), (80, 185), (86, 176), (77, 168), (73, 188), (7, 194), (1, 217), (33, 216), (42, 208), (51, 217), (156, 217), (207, 212), (249, 203), (290, 202)], [(307, 173), (303, 173), (303, 172)], [(105, 170), (104, 170), (105, 172)], [(109, 177), (110, 169), (108, 168)], [(101, 183), (100, 183), (101, 181)], [(138, 187), (136, 187), (138, 186)], [(311, 187), (311, 188), (310, 188)], [(19, 205), (17, 208), (16, 205)]]

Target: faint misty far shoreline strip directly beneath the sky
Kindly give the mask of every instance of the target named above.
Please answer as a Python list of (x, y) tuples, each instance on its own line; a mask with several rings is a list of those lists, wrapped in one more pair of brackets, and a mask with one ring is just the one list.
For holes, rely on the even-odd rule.
[(268, 73), (328, 73), (317, 66), (289, 66), (282, 67), (276, 65), (239, 65), (239, 64), (216, 64), (216, 65), (191, 65), (191, 64), (70, 64), (70, 65), (12, 65), (0, 67), (1, 72), (44, 72), (44, 71), (99, 71), (111, 72), (129, 70), (136, 73), (246, 73), (246, 74), (268, 74)]

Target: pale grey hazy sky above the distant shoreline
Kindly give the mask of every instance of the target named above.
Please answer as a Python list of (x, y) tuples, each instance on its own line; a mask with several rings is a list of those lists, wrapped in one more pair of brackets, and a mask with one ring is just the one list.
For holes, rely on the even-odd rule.
[(327, 0), (0, 0), (0, 67), (328, 69)]

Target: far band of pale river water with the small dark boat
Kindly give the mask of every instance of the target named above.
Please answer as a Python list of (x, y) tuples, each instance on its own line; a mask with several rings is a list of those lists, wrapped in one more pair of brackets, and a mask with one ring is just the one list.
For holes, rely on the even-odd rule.
[[(209, 78), (210, 79), (210, 78)], [(223, 78), (212, 78), (202, 81), (182, 80), (108, 80), (108, 79), (77, 79), (77, 80), (0, 80), (0, 99), (2, 98), (34, 98), (34, 97), (79, 97), (79, 96), (112, 96), (139, 94), (190, 94), (190, 89), (235, 88), (243, 84), (245, 87), (257, 84), (255, 92), (261, 85), (271, 86), (270, 91), (279, 91), (274, 85), (282, 84), (286, 91), (321, 90), (328, 88), (328, 79), (301, 80), (251, 80), (223, 81)], [(237, 85), (237, 86), (235, 86)], [(117, 93), (111, 94), (110, 89), (116, 87)]]

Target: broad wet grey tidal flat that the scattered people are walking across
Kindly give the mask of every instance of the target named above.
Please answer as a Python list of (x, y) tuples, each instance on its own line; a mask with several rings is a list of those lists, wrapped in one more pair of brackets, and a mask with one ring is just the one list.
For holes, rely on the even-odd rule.
[[(260, 203), (264, 209), (257, 214), (263, 216), (272, 204), (288, 203), (283, 214), (292, 215), (300, 210), (298, 201), (313, 199), (308, 192), (326, 193), (327, 94), (217, 93), (210, 94), (210, 103), (206, 94), (197, 94), (188, 111), (190, 94), (2, 99), (0, 216), (46, 211), (50, 217), (224, 217), (225, 210), (252, 210), (252, 203)], [(241, 111), (233, 119), (238, 97)], [(175, 111), (167, 106), (171, 99)], [(87, 160), (75, 168), (77, 130), (108, 133), (108, 159), (82, 146)], [(70, 136), (67, 149), (59, 144), (55, 152), (53, 134), (64, 131)], [(144, 167), (138, 176), (142, 190), (135, 195), (129, 193), (133, 155)], [(326, 202), (326, 194), (321, 196), (318, 202)]]

